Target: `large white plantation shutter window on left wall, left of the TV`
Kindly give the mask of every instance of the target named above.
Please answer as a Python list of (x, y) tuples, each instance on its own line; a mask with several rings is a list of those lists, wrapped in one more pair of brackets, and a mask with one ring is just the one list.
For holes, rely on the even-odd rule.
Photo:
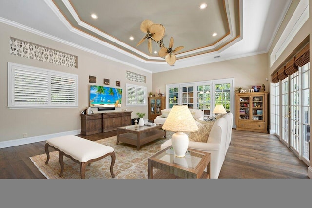
[(8, 63), (8, 108), (78, 107), (78, 75)]

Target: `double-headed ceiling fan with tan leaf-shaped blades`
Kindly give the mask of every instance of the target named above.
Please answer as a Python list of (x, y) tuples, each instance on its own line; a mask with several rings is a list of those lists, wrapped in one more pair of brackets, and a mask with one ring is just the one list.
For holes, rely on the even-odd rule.
[(174, 39), (173, 37), (171, 37), (169, 47), (166, 48), (162, 40), (165, 35), (165, 27), (161, 24), (154, 24), (150, 20), (144, 20), (141, 23), (140, 29), (142, 32), (146, 33), (146, 35), (137, 43), (137, 46), (144, 42), (145, 39), (148, 39), (148, 50), (150, 54), (152, 54), (152, 40), (157, 42), (161, 47), (158, 55), (162, 58), (165, 58), (165, 61), (169, 65), (174, 65), (176, 62), (176, 55), (174, 54), (174, 52), (182, 50), (184, 46), (179, 46), (173, 50), (172, 47), (174, 44)]

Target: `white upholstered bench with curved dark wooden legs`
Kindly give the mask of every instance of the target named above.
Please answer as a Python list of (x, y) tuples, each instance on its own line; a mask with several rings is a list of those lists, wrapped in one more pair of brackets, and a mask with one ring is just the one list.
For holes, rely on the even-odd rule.
[(45, 164), (48, 164), (50, 159), (48, 151), (49, 147), (52, 147), (59, 152), (59, 163), (61, 166), (59, 176), (62, 176), (64, 171), (64, 155), (80, 164), (80, 174), (82, 179), (85, 178), (85, 168), (87, 164), (90, 165), (91, 162), (101, 160), (110, 155), (112, 158), (110, 172), (112, 178), (115, 177), (115, 174), (113, 173), (115, 152), (114, 148), (110, 146), (102, 145), (75, 135), (51, 138), (45, 143), (45, 153), (47, 154)]

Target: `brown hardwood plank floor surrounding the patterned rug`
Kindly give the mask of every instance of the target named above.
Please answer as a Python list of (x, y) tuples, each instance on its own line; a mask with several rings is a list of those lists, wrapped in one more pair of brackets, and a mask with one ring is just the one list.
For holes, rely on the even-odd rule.
[[(116, 131), (83, 138), (96, 141), (115, 136)], [(0, 179), (45, 179), (29, 157), (43, 154), (45, 142), (0, 149)], [(53, 151), (50, 148), (50, 151)], [(309, 178), (308, 166), (276, 136), (236, 131), (219, 178)]]

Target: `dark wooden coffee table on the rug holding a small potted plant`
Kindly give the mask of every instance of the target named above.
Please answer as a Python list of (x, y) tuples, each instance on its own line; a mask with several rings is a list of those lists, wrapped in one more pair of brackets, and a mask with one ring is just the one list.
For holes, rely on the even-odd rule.
[(124, 142), (137, 146), (137, 150), (139, 150), (141, 145), (152, 142), (159, 137), (166, 138), (166, 131), (161, 128), (162, 124), (155, 126), (144, 125), (137, 127), (137, 129), (135, 125), (118, 127), (116, 144), (118, 145), (119, 142)]

